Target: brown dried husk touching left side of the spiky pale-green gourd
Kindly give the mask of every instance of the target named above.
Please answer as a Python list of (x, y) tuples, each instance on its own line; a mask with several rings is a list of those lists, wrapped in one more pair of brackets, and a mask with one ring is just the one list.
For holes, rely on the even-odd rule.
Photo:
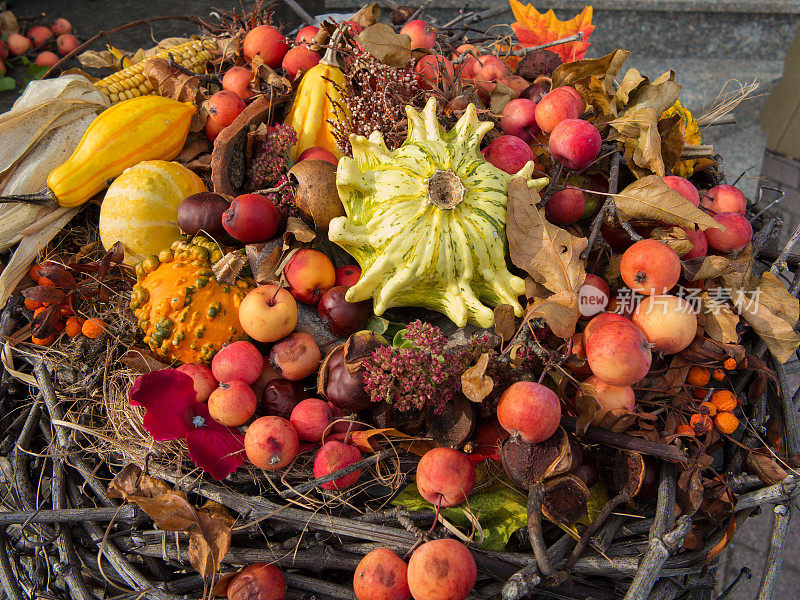
[(289, 181), (297, 185), (294, 203), (317, 231), (327, 231), (331, 219), (344, 216), (336, 189), (336, 166), (308, 158), (289, 169)]

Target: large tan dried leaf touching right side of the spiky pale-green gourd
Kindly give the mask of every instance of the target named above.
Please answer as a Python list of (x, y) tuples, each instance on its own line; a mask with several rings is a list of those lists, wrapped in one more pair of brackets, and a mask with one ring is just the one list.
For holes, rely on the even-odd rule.
[(511, 180), (506, 223), (511, 262), (553, 293), (577, 294), (586, 278), (580, 254), (588, 240), (550, 223), (544, 209), (536, 208), (539, 200), (524, 179)]

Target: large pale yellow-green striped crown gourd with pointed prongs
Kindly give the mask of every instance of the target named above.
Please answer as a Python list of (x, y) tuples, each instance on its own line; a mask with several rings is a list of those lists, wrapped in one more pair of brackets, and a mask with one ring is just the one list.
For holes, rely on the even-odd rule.
[[(492, 124), (479, 121), (470, 104), (445, 132), (433, 98), (422, 113), (409, 106), (406, 114), (408, 137), (397, 150), (389, 152), (379, 132), (351, 135), (353, 158), (339, 161), (336, 184), (347, 216), (330, 222), (328, 237), (362, 270), (346, 299), (371, 297), (378, 315), (421, 306), (459, 327), (491, 326), (489, 307), (499, 304), (521, 315), (525, 285), (506, 267), (512, 176), (479, 152)], [(514, 177), (528, 179), (532, 171), (528, 162)]]

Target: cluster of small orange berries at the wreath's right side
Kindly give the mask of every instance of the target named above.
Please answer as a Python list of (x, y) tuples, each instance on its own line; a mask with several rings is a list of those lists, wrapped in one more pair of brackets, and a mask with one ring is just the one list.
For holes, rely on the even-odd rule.
[[(725, 360), (723, 367), (727, 371), (736, 368), (736, 361), (732, 358)], [(731, 434), (739, 426), (739, 419), (733, 414), (739, 405), (739, 400), (729, 390), (710, 391), (707, 386), (713, 377), (717, 381), (725, 379), (725, 370), (714, 369), (713, 372), (706, 367), (698, 365), (689, 369), (686, 382), (694, 386), (693, 395), (702, 400), (697, 412), (689, 419), (689, 424), (678, 426), (677, 433), (684, 435), (702, 435), (716, 427), (720, 433)]]

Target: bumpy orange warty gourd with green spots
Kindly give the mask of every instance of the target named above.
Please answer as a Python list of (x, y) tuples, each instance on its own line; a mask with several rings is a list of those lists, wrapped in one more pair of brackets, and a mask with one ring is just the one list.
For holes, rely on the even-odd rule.
[(252, 280), (218, 282), (211, 266), (222, 258), (214, 242), (175, 242), (136, 265), (131, 309), (144, 341), (159, 356), (209, 363), (224, 344), (247, 336), (239, 305)]

